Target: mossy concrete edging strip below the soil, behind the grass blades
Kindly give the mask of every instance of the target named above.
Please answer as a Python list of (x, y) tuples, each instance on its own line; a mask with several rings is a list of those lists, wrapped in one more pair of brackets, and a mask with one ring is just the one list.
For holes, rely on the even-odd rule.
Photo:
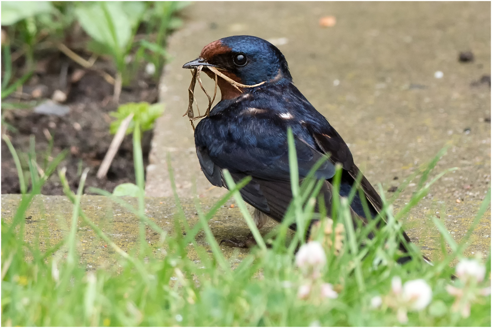
[[(20, 199), (20, 195), (1, 195), (1, 217), (7, 224), (11, 222)], [(137, 207), (135, 198), (126, 197), (124, 200)], [(216, 198), (201, 198), (200, 204), (202, 209), (207, 212), (216, 201)], [(234, 204), (234, 201), (230, 200), (209, 221), (209, 226), (217, 242), (231, 237), (246, 237), (249, 233), (238, 207), (231, 208), (232, 204)], [(188, 224), (191, 227), (197, 224), (199, 219), (193, 201), (184, 199), (182, 205)], [(169, 234), (174, 232), (173, 220), (174, 215), (177, 213), (174, 199), (169, 197), (150, 197), (146, 198), (145, 206), (146, 214), (151, 220)], [(126, 209), (102, 196), (82, 196), (81, 208), (88, 218), (124, 251), (131, 252), (138, 244), (138, 218)], [(31, 218), (26, 220), (25, 240), (33, 243), (36, 242), (37, 238), (40, 250), (44, 252), (51, 245), (56, 244), (68, 235), (71, 226), (72, 204), (65, 196), (38, 195), (35, 196), (26, 215), (31, 216)], [(490, 211), (486, 213), (486, 216), (490, 217)], [(469, 223), (468, 221), (460, 221), (457, 226), (464, 229), (467, 228)], [(471, 255), (477, 252), (481, 252), (483, 255), (487, 254), (490, 247), (490, 238), (483, 237), (487, 233), (487, 224), (490, 227), (490, 220), (484, 221), (475, 231), (471, 239), (471, 246), (466, 250), (465, 254)], [(275, 226), (276, 223), (270, 221), (260, 230), (260, 233), (265, 236)], [(409, 227), (407, 226), (406, 228)], [(422, 232), (431, 233), (431, 238), (416, 238), (414, 241), (422, 248), (425, 255), (431, 259), (437, 259), (440, 250), (436, 252), (433, 250), (440, 249), (440, 244), (438, 233), (435, 231), (431, 220), (421, 221), (416, 229), (418, 230), (417, 235), (419, 233), (422, 234)], [(181, 231), (181, 233), (184, 233), (184, 231)], [(488, 233), (490, 234), (490, 228)], [(289, 234), (292, 236), (292, 232)], [(453, 237), (456, 236), (453, 235)], [(158, 239), (159, 235), (154, 230), (150, 228), (146, 230), (146, 240), (149, 244), (157, 244)], [(91, 227), (82, 219), (79, 219), (78, 222), (76, 240), (80, 263), (84, 264), (87, 269), (118, 264), (119, 255), (104, 240), (99, 239)], [(199, 245), (204, 246), (205, 249), (211, 252), (203, 231), (197, 235), (196, 240)], [(234, 261), (241, 261), (249, 251), (248, 249), (231, 248), (224, 245), (220, 248), (227, 259)], [(189, 246), (188, 251), (188, 256), (191, 260), (196, 261), (199, 259), (193, 247)], [(60, 252), (63, 256), (66, 249), (62, 248)]]

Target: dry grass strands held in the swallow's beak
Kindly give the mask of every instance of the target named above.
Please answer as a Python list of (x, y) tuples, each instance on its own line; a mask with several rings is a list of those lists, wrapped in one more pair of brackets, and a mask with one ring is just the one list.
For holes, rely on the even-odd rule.
[[(230, 83), (234, 88), (238, 89), (239, 92), (243, 92), (243, 90), (241, 88), (254, 88), (254, 87), (261, 86), (262, 84), (264, 84), (266, 82), (266, 81), (263, 81), (261, 83), (255, 84), (255, 85), (248, 86), (248, 85), (236, 82), (233, 79), (231, 79), (230, 77), (227, 77), (226, 75), (221, 73), (216, 67), (207, 66), (207, 68), (210, 69), (215, 74), (215, 79), (214, 79), (215, 80), (215, 87), (214, 87), (214, 96), (213, 97), (211, 97), (209, 95), (209, 93), (203, 87), (203, 84), (202, 84), (202, 79), (200, 77), (200, 73), (202, 72), (203, 65), (200, 65), (197, 68), (193, 68), (191, 70), (191, 83), (190, 83), (189, 88), (188, 88), (188, 109), (186, 110), (186, 113), (184, 113), (183, 116), (188, 116), (188, 119), (191, 123), (191, 127), (193, 128), (193, 131), (195, 130), (195, 125), (193, 124), (193, 121), (195, 119), (201, 119), (201, 118), (204, 118), (204, 117), (210, 115), (210, 110), (212, 109), (212, 104), (214, 103), (215, 96), (217, 95), (217, 79), (218, 79), (218, 76), (220, 76), (222, 79), (224, 79), (225, 81)], [(205, 92), (205, 95), (207, 95), (207, 98), (209, 99), (209, 106), (207, 107), (207, 110), (205, 111), (205, 113), (203, 115), (200, 115), (200, 109), (198, 108), (198, 102), (195, 99), (194, 92), (195, 92), (196, 81), (198, 81), (200, 88), (203, 90), (203, 92)], [(193, 111), (193, 103), (194, 102), (196, 102), (196, 110), (198, 111), (198, 116), (196, 116), (196, 117), (195, 117), (195, 113)]]

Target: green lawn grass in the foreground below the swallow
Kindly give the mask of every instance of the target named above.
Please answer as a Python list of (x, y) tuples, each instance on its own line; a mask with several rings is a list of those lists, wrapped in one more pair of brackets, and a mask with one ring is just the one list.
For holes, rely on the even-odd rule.
[[(174, 229), (164, 230), (146, 213), (144, 166), (142, 157), (138, 154), (141, 153), (138, 125), (134, 129), (133, 138), (135, 175), (140, 178), (137, 178), (136, 188), (132, 188), (135, 191), (138, 189), (138, 208), (108, 192), (92, 189), (107, 196), (108, 201), (113, 201), (123, 210), (133, 213), (136, 220), (140, 220), (141, 229), (139, 237), (135, 238), (136, 243), (129, 246), (132, 245), (129, 241), (129, 245), (125, 245), (128, 246), (128, 252), (116, 245), (108, 235), (113, 230), (104, 222), (114, 220), (113, 211), (110, 210), (106, 217), (88, 217), (88, 213), (80, 206), (87, 169), (81, 176), (77, 194), (69, 189), (64, 170), (59, 171), (65, 199), (73, 204), (71, 218), (70, 215), (59, 216), (59, 220), (68, 227), (63, 229), (64, 238), (58, 243), (51, 243), (51, 239), (46, 237), (50, 235), (46, 226), (45, 232), (35, 236), (32, 241), (27, 241), (25, 227), (29, 220), (25, 219), (26, 211), (30, 206), (39, 204), (31, 203), (33, 195), (39, 192), (57, 163), (55, 160), (44, 171), (43, 176), (38, 175), (33, 164), (30, 165), (29, 170), (33, 177), (31, 192), (28, 193), (24, 187), (13, 218), (6, 220), (2, 217), (1, 220), (2, 326), (490, 327), (490, 295), (473, 295), (473, 302), (468, 303), (471, 305), (471, 313), (464, 316), (459, 309), (454, 308), (456, 298), (447, 290), (450, 285), (455, 288), (463, 286), (461, 278), (454, 281), (451, 279), (451, 274), (457, 272), (449, 264), (455, 258), (464, 258), (462, 252), (470, 240), (471, 232), (489, 208), (490, 189), (459, 244), (452, 241), (448, 231), (439, 229), (442, 241), (449, 239), (451, 249), (448, 252), (443, 245), (442, 258), (434, 259), (433, 266), (423, 261), (420, 250), (413, 244), (409, 245), (412, 260), (399, 265), (396, 262), (401, 256), (398, 244), (404, 239), (401, 236), (401, 224), (395, 218), (400, 217), (401, 212), (408, 208), (401, 209), (394, 215), (390, 202), (383, 198), (382, 213), (373, 218), (368, 226), (354, 227), (348, 204), (355, 190), (351, 192), (352, 196), (349, 196), (348, 201), (338, 198), (341, 175), (341, 170), (338, 170), (333, 188), (332, 219), (333, 227), (338, 224), (345, 227), (342, 233), (344, 241), (339, 253), (329, 246), (330, 243), (325, 243), (322, 256), (323, 263), (326, 260), (326, 264), (320, 267), (320, 275), (316, 278), (325, 285), (331, 284), (335, 297), (320, 296), (320, 286), (314, 283), (310, 286), (311, 295), (300, 297), (300, 287), (308, 283), (309, 278), (296, 265), (295, 250), (304, 244), (306, 231), (298, 229), (294, 237), (290, 238), (287, 230), (294, 222), (300, 223), (298, 227), (307, 227), (306, 223), (318, 214), (314, 212), (313, 206), (317, 197), (316, 190), (319, 191), (315, 186), (319, 182), (312, 179), (315, 170), (311, 170), (311, 178), (300, 185), (297, 181), (292, 183), (295, 199), (283, 222), (265, 237), (261, 237), (247, 210), (242, 210), (253, 234), (259, 236), (260, 239), (257, 240), (261, 247), (253, 247), (242, 260), (239, 260), (238, 253), (226, 259), (212, 234), (209, 220), (223, 215), (218, 210), (231, 197), (235, 198), (240, 209), (245, 209), (239, 189), (250, 178), (231, 183), (231, 176), (224, 171), (225, 179), (229, 180), (230, 191), (210, 208), (195, 197), (193, 212), (196, 210), (199, 221), (190, 225), (192, 221), (187, 220), (177, 196), (171, 159), (168, 156), (171, 187), (175, 194), (175, 205), (171, 207), (174, 215), (170, 216), (169, 221), (174, 223)], [(10, 150), (16, 157), (15, 149), (10, 147)], [(434, 167), (441, 154), (408, 179), (420, 179), (422, 182), (412, 194), (409, 207), (427, 195), (432, 182), (440, 176), (428, 179), (429, 175), (424, 173)], [(31, 163), (34, 160), (31, 157)], [(297, 175), (294, 172), (297, 158), (292, 134), (289, 136), (289, 165), (291, 177)], [(417, 178), (419, 175), (420, 178)], [(110, 208), (111, 206), (108, 207)], [(322, 207), (320, 210), (325, 209)], [(321, 222), (324, 220), (326, 223), (324, 214), (320, 214)], [(374, 227), (381, 219), (385, 219), (387, 224), (375, 230), (374, 237), (368, 239), (368, 231), (372, 230), (369, 226)], [(435, 217), (434, 219), (437, 220)], [(88, 263), (81, 260), (78, 250), (83, 250), (82, 245), (78, 246), (78, 231), (84, 226), (90, 227), (95, 234), (92, 239), (94, 245), (103, 242), (104, 247), (111, 249), (107, 253), (113, 254), (117, 265), (105, 264), (99, 268), (88, 268)], [(206, 243), (202, 238), (197, 238), (198, 234), (205, 236)], [(151, 243), (148, 238), (153, 235), (156, 238), (151, 239)], [(326, 238), (332, 238), (330, 240), (333, 241), (335, 234), (326, 235), (325, 229), (319, 229), (311, 237), (324, 243)], [(265, 247), (261, 242), (263, 238), (270, 240), (272, 247)], [(191, 254), (199, 260), (190, 260)], [(490, 286), (490, 252), (484, 268), (485, 280), (475, 281), (480, 290)], [(431, 288), (428, 306), (404, 309), (405, 313), (408, 310), (407, 323), (399, 321), (400, 309), (391, 303), (402, 302), (402, 299), (395, 298), (394, 277), (400, 277), (405, 283), (423, 279)], [(475, 291), (478, 291), (477, 288)], [(419, 297), (418, 291), (410, 292), (414, 293), (411, 294), (414, 297)], [(373, 300), (377, 297), (381, 298), (381, 306), (374, 305)], [(458, 305), (461, 308), (467, 306), (464, 303)]]

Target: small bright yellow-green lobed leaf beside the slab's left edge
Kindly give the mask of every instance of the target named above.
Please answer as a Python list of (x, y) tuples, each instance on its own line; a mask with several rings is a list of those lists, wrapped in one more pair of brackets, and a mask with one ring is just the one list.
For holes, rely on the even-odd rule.
[(120, 124), (123, 119), (125, 119), (128, 115), (133, 113), (133, 119), (126, 130), (126, 134), (129, 134), (133, 131), (135, 127), (135, 121), (140, 122), (140, 127), (143, 131), (150, 130), (154, 127), (154, 121), (157, 119), (162, 112), (164, 111), (164, 104), (157, 103), (150, 105), (148, 102), (139, 102), (134, 103), (130, 102), (118, 107), (117, 112), (109, 113), (112, 117), (116, 118), (116, 121), (111, 122), (109, 126), (109, 131), (112, 134), (115, 134), (120, 127)]

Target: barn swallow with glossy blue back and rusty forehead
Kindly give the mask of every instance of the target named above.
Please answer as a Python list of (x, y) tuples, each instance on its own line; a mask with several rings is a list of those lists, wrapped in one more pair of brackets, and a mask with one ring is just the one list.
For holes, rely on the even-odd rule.
[[(195, 129), (195, 146), (205, 177), (217, 187), (227, 187), (222, 170), (229, 170), (235, 181), (250, 176), (241, 189), (244, 200), (255, 208), (253, 218), (260, 229), (268, 218), (281, 222), (292, 199), (287, 128), (292, 129), (298, 156), (299, 177), (307, 176), (323, 155), (329, 160), (316, 171), (323, 179), (321, 192), (327, 209), (332, 203), (335, 166), (341, 165), (339, 195), (347, 197), (360, 173), (347, 144), (294, 86), (287, 60), (273, 44), (249, 35), (219, 39), (203, 48), (200, 57), (183, 68), (202, 70), (215, 78), (218, 70), (226, 77), (254, 88), (237, 88), (218, 77), (221, 100)], [(372, 217), (383, 207), (381, 197), (362, 176), (360, 188)], [(368, 222), (362, 201), (356, 193), (351, 212), (354, 220)], [(295, 226), (294, 226), (295, 227)], [(403, 237), (410, 242), (408, 236)], [(230, 246), (244, 247), (246, 240), (223, 240)], [(401, 244), (400, 249), (404, 250)]]

